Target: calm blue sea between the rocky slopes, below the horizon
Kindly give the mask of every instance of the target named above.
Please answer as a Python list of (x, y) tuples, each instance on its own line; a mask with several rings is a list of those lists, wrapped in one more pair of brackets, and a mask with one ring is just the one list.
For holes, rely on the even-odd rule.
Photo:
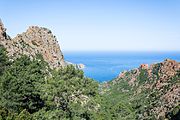
[(140, 64), (153, 64), (165, 59), (180, 62), (180, 52), (64, 52), (65, 60), (82, 63), (85, 76), (99, 82), (109, 81), (124, 70)]

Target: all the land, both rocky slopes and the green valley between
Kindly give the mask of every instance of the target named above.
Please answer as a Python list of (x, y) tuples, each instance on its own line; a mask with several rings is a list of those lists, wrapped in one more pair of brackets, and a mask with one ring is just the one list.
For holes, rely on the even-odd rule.
[(78, 68), (47, 28), (11, 38), (0, 21), (0, 120), (180, 119), (180, 62), (142, 64), (105, 83)]

